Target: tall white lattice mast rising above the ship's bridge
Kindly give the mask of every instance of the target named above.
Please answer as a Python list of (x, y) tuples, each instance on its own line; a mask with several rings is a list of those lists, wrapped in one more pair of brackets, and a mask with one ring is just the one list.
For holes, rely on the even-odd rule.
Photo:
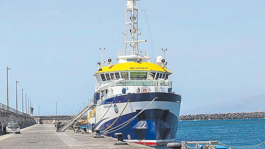
[(138, 5), (136, 1), (139, 0), (126, 0), (126, 18), (125, 18), (125, 36), (126, 41), (125, 51), (131, 51), (132, 55), (139, 55), (139, 42), (146, 42), (146, 40), (138, 40)]

